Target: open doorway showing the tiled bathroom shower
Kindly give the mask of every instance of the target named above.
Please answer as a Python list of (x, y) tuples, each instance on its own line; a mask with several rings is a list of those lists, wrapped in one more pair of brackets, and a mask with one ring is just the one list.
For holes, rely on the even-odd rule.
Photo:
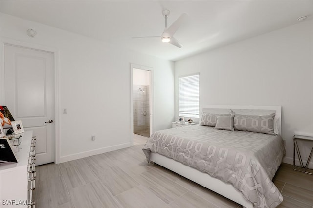
[(151, 70), (133, 67), (133, 133), (150, 137)]

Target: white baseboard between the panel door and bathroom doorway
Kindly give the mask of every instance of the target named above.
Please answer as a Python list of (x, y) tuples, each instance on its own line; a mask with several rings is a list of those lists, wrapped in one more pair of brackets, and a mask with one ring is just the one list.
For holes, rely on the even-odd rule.
[(99, 148), (99, 149), (93, 149), (93, 150), (89, 150), (89, 151), (85, 151), (85, 152), (80, 152), (80, 153), (76, 153), (76, 154), (71, 154), (71, 155), (66, 155), (66, 156), (61, 156), (59, 159), (60, 163), (64, 163), (67, 161), (71, 161), (71, 160), (77, 160), (77, 159), (81, 159), (84, 157), (89, 157), (92, 155), (97, 155), (97, 154), (102, 154), (105, 152), (111, 152), (114, 150), (118, 150), (118, 149), (123, 149), (126, 147), (130, 147), (131, 143), (124, 143), (124, 144), (120, 144), (120, 145), (114, 145), (114, 146), (107, 146), (107, 147), (103, 147), (103, 148)]

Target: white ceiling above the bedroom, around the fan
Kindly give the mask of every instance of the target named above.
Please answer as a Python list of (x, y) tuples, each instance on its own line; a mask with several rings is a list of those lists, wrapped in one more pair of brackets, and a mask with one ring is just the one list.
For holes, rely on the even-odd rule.
[[(308, 15), (312, 19), (312, 3), (312, 0), (1, 0), (1, 12), (176, 61), (299, 23), (300, 16)], [(160, 36), (165, 24), (164, 9), (171, 11), (168, 25), (182, 13), (188, 14), (188, 20), (174, 35), (183, 44), (182, 48), (159, 38), (132, 39)]]

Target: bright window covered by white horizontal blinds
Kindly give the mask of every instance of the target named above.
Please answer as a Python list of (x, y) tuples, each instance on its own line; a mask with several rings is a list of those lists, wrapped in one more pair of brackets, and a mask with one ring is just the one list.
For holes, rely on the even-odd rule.
[(179, 77), (179, 116), (199, 118), (199, 74)]

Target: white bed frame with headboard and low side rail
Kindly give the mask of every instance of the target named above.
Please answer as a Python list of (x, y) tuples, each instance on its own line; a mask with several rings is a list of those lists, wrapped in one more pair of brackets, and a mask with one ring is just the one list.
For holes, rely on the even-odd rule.
[[(203, 109), (248, 109), (248, 110), (275, 110), (275, 119), (278, 120), (279, 124), (279, 134), (281, 129), (281, 106), (243, 106), (243, 105), (209, 105), (205, 106)], [(173, 159), (167, 158), (163, 155), (157, 153), (150, 153), (150, 161), (166, 167), (191, 181), (200, 184), (222, 196), (243, 205), (244, 208), (253, 208), (253, 204), (246, 200), (242, 193), (235, 189), (231, 184), (226, 184), (219, 179), (216, 179), (206, 173), (203, 173), (195, 168), (185, 166)]]

